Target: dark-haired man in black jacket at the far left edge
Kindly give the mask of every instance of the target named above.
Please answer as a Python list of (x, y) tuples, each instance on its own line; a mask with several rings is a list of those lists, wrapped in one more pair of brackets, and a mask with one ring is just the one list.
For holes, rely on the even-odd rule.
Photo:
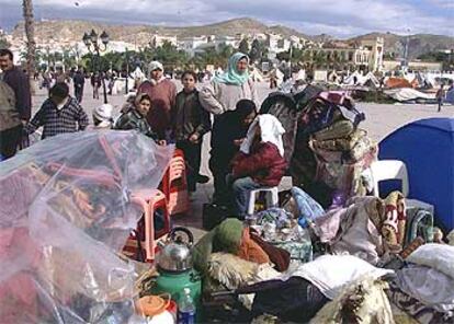
[(15, 111), (22, 120), (13, 128), (0, 131), (1, 154), (11, 158), (22, 141), (22, 126), (30, 120), (32, 114), (32, 96), (29, 77), (13, 65), (13, 54), (9, 49), (0, 49), (0, 69), (3, 81), (13, 90)]

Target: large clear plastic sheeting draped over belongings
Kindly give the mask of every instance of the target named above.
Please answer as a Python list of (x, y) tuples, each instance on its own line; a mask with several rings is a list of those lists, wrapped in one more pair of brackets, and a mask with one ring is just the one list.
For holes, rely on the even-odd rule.
[(0, 163), (0, 322), (128, 323), (135, 269), (118, 256), (173, 154), (134, 131), (41, 141)]

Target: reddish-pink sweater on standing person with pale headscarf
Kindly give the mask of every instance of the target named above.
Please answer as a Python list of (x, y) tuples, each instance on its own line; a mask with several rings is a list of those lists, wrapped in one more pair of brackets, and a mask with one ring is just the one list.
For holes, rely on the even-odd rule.
[(146, 93), (151, 99), (151, 108), (147, 115), (148, 124), (160, 139), (166, 138), (166, 131), (172, 128), (170, 111), (175, 103), (177, 86), (172, 81), (162, 80), (156, 85), (144, 81), (137, 89), (137, 94)]

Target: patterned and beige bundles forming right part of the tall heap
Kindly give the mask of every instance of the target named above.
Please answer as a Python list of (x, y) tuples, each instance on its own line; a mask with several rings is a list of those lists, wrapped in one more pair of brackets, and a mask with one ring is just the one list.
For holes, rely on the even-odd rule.
[(322, 92), (302, 116), (309, 148), (317, 161), (316, 181), (344, 199), (363, 194), (361, 174), (376, 160), (377, 143), (359, 128), (364, 115), (344, 94)]

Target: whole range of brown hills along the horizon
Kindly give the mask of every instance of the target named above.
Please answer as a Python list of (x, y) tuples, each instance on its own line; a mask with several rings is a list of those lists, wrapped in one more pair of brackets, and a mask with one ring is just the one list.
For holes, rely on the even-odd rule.
[[(299, 31), (282, 26), (282, 25), (266, 25), (260, 21), (240, 18), (228, 20), (215, 24), (186, 27), (170, 27), (170, 26), (154, 26), (154, 25), (121, 25), (121, 24), (105, 24), (92, 21), (80, 20), (56, 20), (56, 21), (39, 21), (35, 24), (36, 38), (45, 43), (46, 40), (54, 42), (71, 42), (80, 40), (84, 32), (106, 31), (111, 39), (124, 40), (132, 44), (145, 45), (150, 40), (150, 34), (159, 34), (167, 36), (177, 36), (179, 38), (200, 36), (200, 35), (236, 35), (236, 34), (258, 34), (258, 33), (274, 33), (283, 36), (295, 35), (315, 42), (332, 40), (334, 37), (329, 35), (306, 35)], [(19, 23), (13, 32), (13, 37), (23, 37), (24, 24)], [(396, 35), (391, 33), (371, 33), (366, 35), (356, 36), (350, 39), (342, 39), (342, 42), (354, 43), (364, 38), (384, 37), (385, 53), (394, 53), (402, 55), (406, 44), (408, 44), (408, 53), (410, 58), (416, 58), (421, 54), (434, 50), (445, 50), (454, 48), (454, 37), (443, 35)]]

